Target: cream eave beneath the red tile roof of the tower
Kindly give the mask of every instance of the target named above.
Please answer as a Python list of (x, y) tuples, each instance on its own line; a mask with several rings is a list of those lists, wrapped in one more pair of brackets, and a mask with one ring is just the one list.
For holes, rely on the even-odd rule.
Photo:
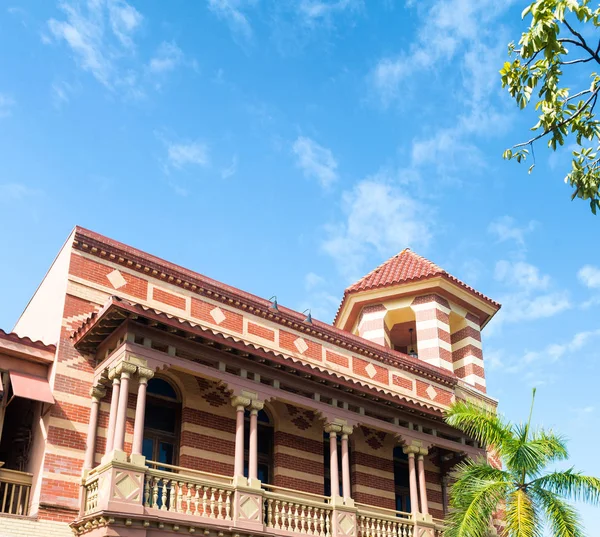
[(368, 291), (346, 293), (335, 320), (335, 326), (352, 331), (361, 310), (370, 304), (380, 304), (406, 296), (435, 293), (465, 308), (481, 319), (483, 328), (500, 309), (500, 304), (470, 292), (445, 275), (382, 287)]

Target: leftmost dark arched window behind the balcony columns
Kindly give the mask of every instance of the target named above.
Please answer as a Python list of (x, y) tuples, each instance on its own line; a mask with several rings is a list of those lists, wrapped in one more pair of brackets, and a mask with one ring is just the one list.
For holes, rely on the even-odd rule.
[(173, 385), (160, 377), (148, 382), (144, 444), (146, 460), (177, 464), (181, 423), (181, 398)]

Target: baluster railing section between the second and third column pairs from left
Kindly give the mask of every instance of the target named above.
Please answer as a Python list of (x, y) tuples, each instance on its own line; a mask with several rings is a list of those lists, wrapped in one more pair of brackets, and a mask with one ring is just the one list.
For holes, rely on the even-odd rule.
[(264, 483), (263, 489), (267, 529), (278, 534), (288, 532), (317, 537), (331, 536), (329, 498)]

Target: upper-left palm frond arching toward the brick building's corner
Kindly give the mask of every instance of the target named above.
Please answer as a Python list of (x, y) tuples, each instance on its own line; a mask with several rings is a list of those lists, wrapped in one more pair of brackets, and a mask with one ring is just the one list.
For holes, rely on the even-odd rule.
[(464, 431), (484, 446), (493, 446), (500, 456), (505, 444), (514, 440), (510, 426), (493, 409), (469, 401), (454, 403), (446, 413), (446, 423)]

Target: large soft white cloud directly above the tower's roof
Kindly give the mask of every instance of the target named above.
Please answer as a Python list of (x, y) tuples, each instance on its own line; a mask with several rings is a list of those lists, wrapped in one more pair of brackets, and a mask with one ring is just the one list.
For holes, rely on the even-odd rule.
[(347, 278), (362, 276), (374, 264), (407, 246), (426, 247), (432, 236), (431, 208), (377, 175), (342, 196), (344, 219), (327, 227), (322, 249)]

